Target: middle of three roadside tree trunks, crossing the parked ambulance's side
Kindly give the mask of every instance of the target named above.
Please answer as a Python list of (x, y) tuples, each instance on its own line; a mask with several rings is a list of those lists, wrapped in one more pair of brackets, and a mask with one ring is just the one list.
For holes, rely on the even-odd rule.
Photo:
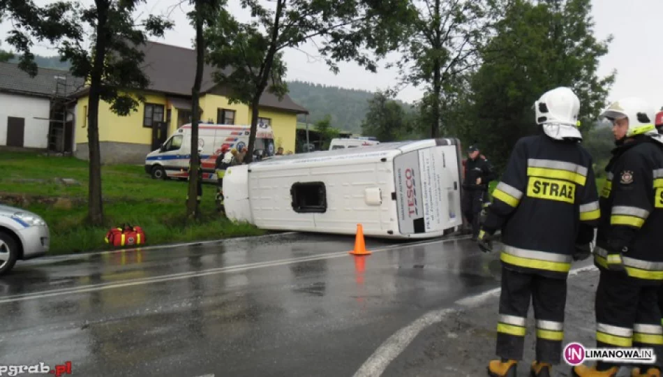
[(202, 35), (202, 1), (195, 1), (195, 79), (191, 89), (191, 159), (189, 160), (188, 201), (186, 202), (186, 216), (188, 219), (200, 218), (198, 207), (198, 169), (200, 158), (198, 156), (198, 121), (200, 121), (200, 84), (202, 82), (202, 69), (204, 66), (204, 38)]

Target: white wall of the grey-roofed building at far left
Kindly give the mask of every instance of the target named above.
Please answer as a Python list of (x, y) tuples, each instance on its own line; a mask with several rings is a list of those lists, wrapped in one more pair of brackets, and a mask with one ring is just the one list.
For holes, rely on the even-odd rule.
[(49, 112), (47, 98), (0, 93), (0, 145), (7, 145), (7, 117), (17, 117), (25, 119), (23, 147), (45, 149), (48, 121), (43, 119), (48, 119)]

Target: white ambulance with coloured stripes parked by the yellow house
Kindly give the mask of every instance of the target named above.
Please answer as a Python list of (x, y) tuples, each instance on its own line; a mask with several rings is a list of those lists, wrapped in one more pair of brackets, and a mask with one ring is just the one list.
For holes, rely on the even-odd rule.
[[(248, 147), (251, 126), (233, 124), (198, 124), (198, 145), (202, 147), (202, 179), (216, 181), (214, 165), (222, 147), (237, 151)], [(254, 152), (264, 157), (274, 156), (274, 133), (271, 126), (258, 124), (255, 134)], [(145, 172), (154, 179), (188, 177), (191, 159), (191, 124), (185, 124), (168, 138), (161, 148), (151, 151), (145, 157)]]

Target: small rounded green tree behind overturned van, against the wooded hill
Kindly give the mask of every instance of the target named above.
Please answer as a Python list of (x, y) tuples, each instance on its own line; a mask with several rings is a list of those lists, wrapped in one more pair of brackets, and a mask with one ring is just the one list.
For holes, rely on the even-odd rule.
[(403, 106), (390, 99), (385, 92), (378, 93), (368, 101), (368, 112), (362, 121), (362, 134), (375, 136), (380, 142), (410, 138), (415, 117)]

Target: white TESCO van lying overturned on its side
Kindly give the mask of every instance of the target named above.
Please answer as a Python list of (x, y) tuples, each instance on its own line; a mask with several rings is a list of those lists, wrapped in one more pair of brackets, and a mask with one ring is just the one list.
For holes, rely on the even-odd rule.
[(457, 139), (315, 151), (228, 168), (226, 215), (265, 230), (385, 238), (456, 232), (461, 215)]

